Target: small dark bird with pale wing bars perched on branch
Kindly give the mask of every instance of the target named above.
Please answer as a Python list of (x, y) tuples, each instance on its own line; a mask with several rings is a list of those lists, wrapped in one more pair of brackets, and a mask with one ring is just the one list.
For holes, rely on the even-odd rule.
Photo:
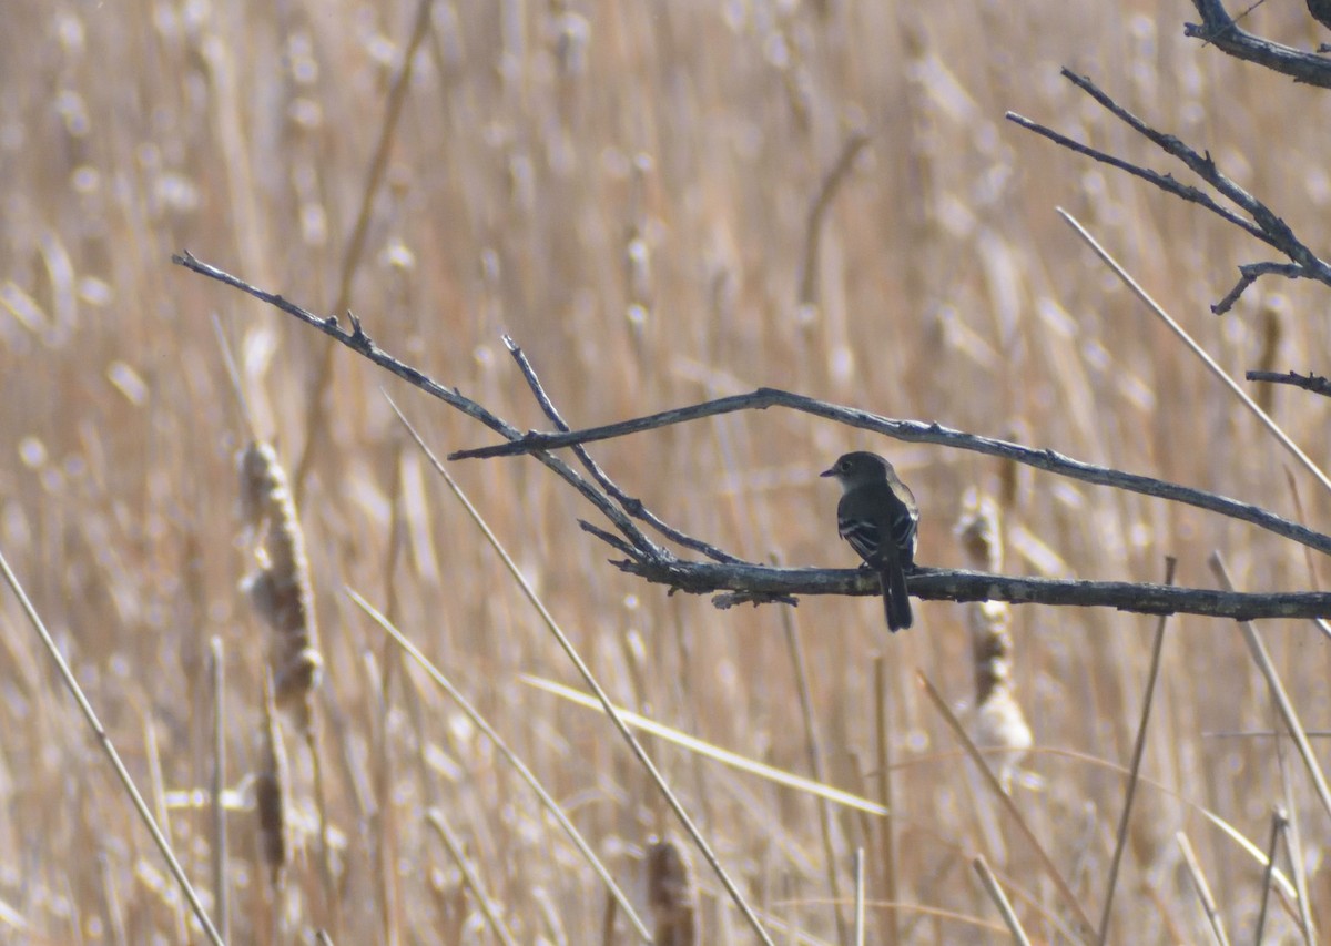
[(906, 571), (914, 569), (916, 527), (920, 507), (892, 464), (877, 454), (844, 454), (821, 476), (841, 484), (836, 508), (837, 532), (858, 552), (864, 564), (878, 573), (888, 629), (910, 627), (910, 596)]

